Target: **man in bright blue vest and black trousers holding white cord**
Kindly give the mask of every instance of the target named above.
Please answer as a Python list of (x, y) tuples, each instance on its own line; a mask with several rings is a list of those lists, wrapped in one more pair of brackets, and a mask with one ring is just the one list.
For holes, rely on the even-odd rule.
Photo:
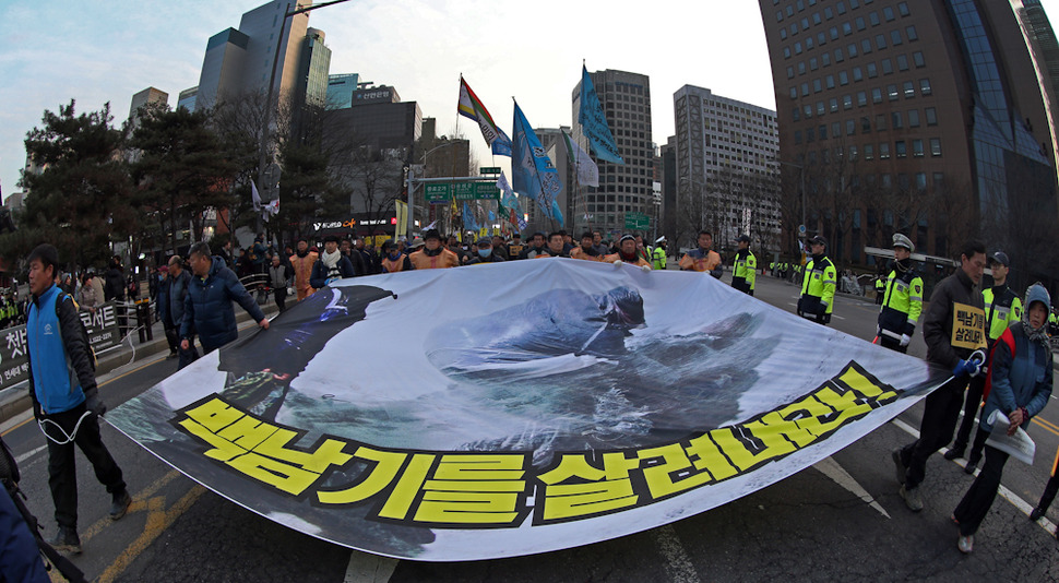
[(78, 537), (78, 472), (73, 447), (81, 448), (96, 478), (112, 497), (110, 519), (124, 516), (132, 498), (121, 468), (103, 444), (95, 365), (73, 298), (55, 285), (56, 248), (44, 243), (29, 252), (29, 302), (26, 344), (33, 413), (48, 441), (48, 485), (59, 531), (48, 543), (58, 550), (81, 552)]

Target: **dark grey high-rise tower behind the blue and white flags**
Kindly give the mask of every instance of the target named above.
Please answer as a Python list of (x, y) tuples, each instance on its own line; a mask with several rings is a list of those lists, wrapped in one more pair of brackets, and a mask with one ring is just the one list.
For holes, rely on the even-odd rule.
[[(568, 187), (572, 198), (571, 233), (599, 230), (605, 238), (617, 238), (627, 229), (628, 218), (651, 215), (654, 147), (651, 142), (651, 81), (647, 75), (624, 71), (590, 73), (603, 105), (607, 124), (614, 133), (624, 164), (598, 162), (599, 187)], [(581, 108), (581, 82), (573, 88), (573, 119)], [(573, 139), (588, 151), (581, 124), (573, 124)], [(591, 153), (591, 152), (590, 152)], [(650, 228), (639, 229), (650, 233)]]

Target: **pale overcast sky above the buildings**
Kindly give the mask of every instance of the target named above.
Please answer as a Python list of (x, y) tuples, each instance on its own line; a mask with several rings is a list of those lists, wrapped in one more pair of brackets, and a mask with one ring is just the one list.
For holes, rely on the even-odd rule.
[[(115, 121), (148, 86), (177, 94), (199, 83), (210, 36), (238, 27), (263, 2), (0, 0), (0, 188), (25, 164), (25, 134), (45, 109), (110, 103)], [(1059, 0), (1044, 0), (1059, 10)], [(673, 134), (673, 93), (689, 84), (775, 109), (758, 2), (702, 0), (352, 0), (310, 13), (326, 33), (331, 73), (392, 85), (440, 133), (456, 129), (460, 74), (511, 133), (515, 97), (534, 127), (571, 124), (581, 63), (650, 75), (653, 133)], [(459, 131), (489, 163), (471, 120)]]

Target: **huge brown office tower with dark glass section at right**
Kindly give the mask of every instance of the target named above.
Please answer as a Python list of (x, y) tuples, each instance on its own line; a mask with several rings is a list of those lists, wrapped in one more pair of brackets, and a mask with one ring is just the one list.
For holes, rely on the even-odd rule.
[(1050, 80), (1038, 80), (1047, 66), (1027, 49), (1020, 2), (759, 3), (787, 251), (804, 213), (841, 263), (872, 263), (865, 247), (901, 231), (918, 252), (948, 257), (980, 237), (1011, 255), (1019, 285), (1054, 276), (1042, 272), (1056, 264), (1046, 255), (1059, 218), (1040, 90)]

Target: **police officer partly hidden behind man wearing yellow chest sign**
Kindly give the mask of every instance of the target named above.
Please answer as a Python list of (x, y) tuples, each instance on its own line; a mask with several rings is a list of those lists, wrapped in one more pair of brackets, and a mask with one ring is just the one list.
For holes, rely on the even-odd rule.
[[(992, 349), (1003, 331), (1014, 322), (1022, 320), (1022, 300), (1019, 295), (1008, 287), (1008, 266), (1010, 265), (1008, 254), (997, 251), (989, 258), (989, 269), (992, 270), (992, 287), (981, 291), (981, 299), (986, 306), (986, 343), (988, 350)], [(952, 449), (945, 452), (945, 460), (955, 460), (963, 456), (963, 451), (967, 447), (971, 438), (971, 428), (974, 426), (975, 417), (978, 416), (978, 408), (981, 405), (981, 394), (986, 388), (986, 376), (979, 374), (971, 379), (967, 386), (967, 396), (964, 402), (963, 421), (960, 423), (960, 430), (956, 431), (956, 439), (952, 443)], [(974, 474), (975, 466), (981, 461), (981, 449), (986, 444), (988, 433), (978, 429), (975, 433), (974, 443), (971, 445), (971, 454), (967, 455), (967, 465), (964, 472)]]

